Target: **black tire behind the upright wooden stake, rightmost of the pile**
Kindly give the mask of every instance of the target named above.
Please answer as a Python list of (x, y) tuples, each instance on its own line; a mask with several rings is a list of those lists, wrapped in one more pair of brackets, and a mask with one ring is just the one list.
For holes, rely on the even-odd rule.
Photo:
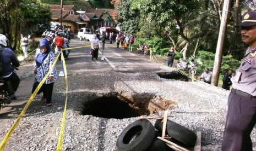
[[(159, 119), (159, 120), (156, 120), (156, 123), (155, 123), (155, 128), (159, 131), (162, 131), (162, 126), (163, 126), (163, 123), (161, 121), (162, 120)], [(173, 139), (177, 140), (178, 142), (181, 142), (185, 146), (188, 146), (188, 147), (195, 146), (195, 142), (197, 141), (197, 135), (193, 131), (187, 129), (186, 127), (179, 125), (174, 121), (167, 120), (166, 130), (169, 136), (171, 136)]]

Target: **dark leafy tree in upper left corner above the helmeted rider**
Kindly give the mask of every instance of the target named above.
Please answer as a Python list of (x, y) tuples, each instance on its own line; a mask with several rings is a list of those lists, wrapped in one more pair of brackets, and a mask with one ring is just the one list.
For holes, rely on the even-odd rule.
[(0, 0), (0, 21), (3, 34), (9, 39), (8, 45), (13, 50), (20, 41), (19, 32), (28, 24), (50, 24), (51, 12), (48, 4), (30, 0)]

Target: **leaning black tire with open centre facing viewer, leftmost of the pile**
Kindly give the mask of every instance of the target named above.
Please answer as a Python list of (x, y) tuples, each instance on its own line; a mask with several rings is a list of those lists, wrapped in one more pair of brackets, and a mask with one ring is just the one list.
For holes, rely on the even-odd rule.
[(145, 150), (155, 137), (155, 128), (149, 120), (137, 120), (128, 125), (117, 138), (117, 150)]

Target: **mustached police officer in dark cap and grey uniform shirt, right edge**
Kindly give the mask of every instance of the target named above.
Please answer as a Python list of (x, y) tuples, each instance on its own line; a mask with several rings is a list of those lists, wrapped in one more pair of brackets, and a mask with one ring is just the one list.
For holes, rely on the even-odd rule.
[(256, 12), (242, 15), (242, 40), (248, 44), (241, 66), (231, 78), (222, 150), (252, 150), (250, 133), (256, 123)]

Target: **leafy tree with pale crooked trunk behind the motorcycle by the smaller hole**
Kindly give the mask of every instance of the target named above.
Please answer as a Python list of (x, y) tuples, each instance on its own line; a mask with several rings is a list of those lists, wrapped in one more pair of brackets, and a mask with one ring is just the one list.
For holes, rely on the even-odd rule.
[[(186, 15), (198, 9), (199, 3), (195, 0), (134, 0), (133, 8), (140, 10), (141, 18), (150, 18), (161, 26), (170, 30), (173, 26), (178, 28), (178, 34), (185, 43), (183, 45), (183, 57), (186, 58), (190, 45), (189, 38), (184, 34), (186, 30)], [(184, 20), (183, 20), (184, 19)]]

